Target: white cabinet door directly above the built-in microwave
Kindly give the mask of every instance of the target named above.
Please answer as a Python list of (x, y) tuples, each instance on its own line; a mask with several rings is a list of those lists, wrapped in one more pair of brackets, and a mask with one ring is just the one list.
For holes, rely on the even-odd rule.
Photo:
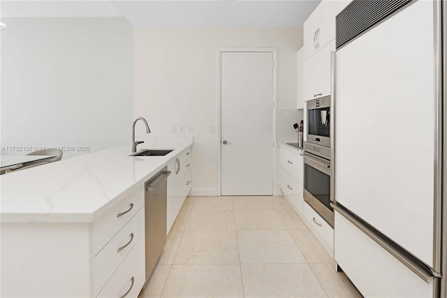
[(330, 95), (331, 55), (335, 40), (305, 60), (305, 101)]

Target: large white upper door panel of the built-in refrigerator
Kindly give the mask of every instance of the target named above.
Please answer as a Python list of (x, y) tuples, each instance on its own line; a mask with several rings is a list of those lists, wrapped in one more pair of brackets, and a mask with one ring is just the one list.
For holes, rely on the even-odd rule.
[(429, 266), (433, 3), (416, 1), (344, 45), (335, 58), (337, 115), (344, 116), (335, 118), (335, 199)]

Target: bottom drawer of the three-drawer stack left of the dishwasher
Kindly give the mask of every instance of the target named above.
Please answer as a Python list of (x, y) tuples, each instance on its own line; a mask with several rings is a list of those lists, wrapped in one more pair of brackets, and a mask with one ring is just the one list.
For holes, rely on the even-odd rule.
[(97, 297), (138, 297), (145, 283), (145, 235), (137, 240)]

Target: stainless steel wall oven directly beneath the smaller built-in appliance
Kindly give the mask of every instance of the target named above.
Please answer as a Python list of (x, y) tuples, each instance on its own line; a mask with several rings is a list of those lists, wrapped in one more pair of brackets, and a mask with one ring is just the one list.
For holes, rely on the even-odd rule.
[(330, 148), (305, 142), (305, 201), (334, 227), (334, 210), (330, 206)]

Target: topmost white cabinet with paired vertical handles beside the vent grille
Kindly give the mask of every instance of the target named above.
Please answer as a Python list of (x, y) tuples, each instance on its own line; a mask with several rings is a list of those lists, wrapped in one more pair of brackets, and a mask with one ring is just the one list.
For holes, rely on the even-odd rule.
[(304, 24), (304, 59), (335, 39), (335, 15), (339, 11), (339, 1), (323, 0), (315, 8)]

